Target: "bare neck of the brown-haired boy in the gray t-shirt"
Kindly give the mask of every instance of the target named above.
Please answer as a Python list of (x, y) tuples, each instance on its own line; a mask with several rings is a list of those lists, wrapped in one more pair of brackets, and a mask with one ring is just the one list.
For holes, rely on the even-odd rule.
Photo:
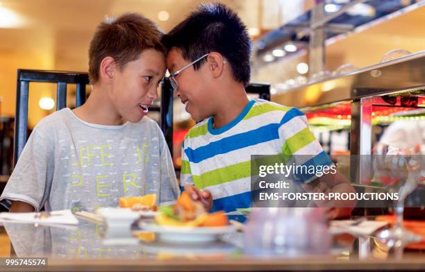
[(73, 110), (76, 116), (91, 124), (119, 126), (126, 123), (109, 99), (107, 86), (94, 84), (87, 101)]

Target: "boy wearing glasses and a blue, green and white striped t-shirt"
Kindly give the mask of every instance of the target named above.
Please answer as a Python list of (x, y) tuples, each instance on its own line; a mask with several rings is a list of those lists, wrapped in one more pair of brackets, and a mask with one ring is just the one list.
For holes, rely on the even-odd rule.
[[(163, 43), (172, 87), (199, 121), (186, 135), (182, 151), (181, 185), (192, 198), (211, 210), (250, 207), (251, 155), (306, 155), (303, 164), (332, 163), (302, 112), (247, 97), (251, 42), (235, 12), (219, 3), (203, 4)], [(321, 191), (354, 192), (339, 173), (303, 182), (308, 191), (320, 184)], [(328, 216), (351, 210), (330, 208)]]

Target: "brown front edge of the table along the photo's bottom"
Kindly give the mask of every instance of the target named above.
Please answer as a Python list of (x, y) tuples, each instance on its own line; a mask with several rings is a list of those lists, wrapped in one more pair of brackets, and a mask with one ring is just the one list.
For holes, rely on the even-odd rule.
[[(4, 266), (0, 266), (0, 271)], [(408, 255), (402, 260), (335, 260), (332, 257), (226, 259), (173, 258), (157, 260), (60, 260), (49, 266), (16, 267), (8, 271), (424, 271), (424, 255)]]

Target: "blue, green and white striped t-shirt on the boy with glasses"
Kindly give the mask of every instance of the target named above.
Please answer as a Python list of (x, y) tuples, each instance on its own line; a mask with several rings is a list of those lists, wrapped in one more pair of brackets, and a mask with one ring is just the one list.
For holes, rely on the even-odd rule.
[[(308, 155), (303, 164), (331, 164), (297, 108), (256, 99), (221, 128), (213, 117), (186, 135), (181, 186), (195, 185), (213, 194), (213, 211), (251, 206), (251, 155)], [(304, 158), (306, 156), (303, 156)], [(303, 182), (315, 177), (303, 177)]]

